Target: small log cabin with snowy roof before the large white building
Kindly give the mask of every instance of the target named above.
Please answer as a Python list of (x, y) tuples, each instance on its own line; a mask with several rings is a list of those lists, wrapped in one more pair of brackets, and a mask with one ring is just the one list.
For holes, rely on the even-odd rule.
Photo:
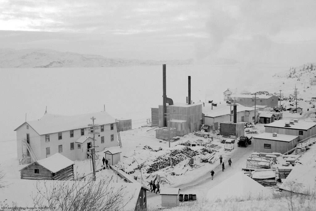
[(74, 162), (56, 153), (21, 169), (21, 179), (74, 180)]

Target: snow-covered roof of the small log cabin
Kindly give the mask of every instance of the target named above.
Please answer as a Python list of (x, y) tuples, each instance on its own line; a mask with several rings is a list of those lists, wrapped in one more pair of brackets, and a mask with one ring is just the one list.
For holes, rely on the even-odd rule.
[[(43, 166), (44, 168), (48, 169), (49, 171), (53, 173), (56, 173), (57, 171), (60, 171), (72, 164), (75, 164), (72, 160), (66, 158), (64, 155), (61, 155), (59, 153), (53, 154), (52, 156), (48, 158), (38, 160), (36, 161), (36, 163), (40, 164), (41, 166)], [(25, 168), (26, 167), (24, 167), (23, 169)]]

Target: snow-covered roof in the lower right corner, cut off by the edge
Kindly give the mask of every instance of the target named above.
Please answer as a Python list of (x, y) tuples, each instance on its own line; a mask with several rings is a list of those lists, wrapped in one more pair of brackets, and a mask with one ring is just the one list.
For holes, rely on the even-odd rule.
[(296, 165), (283, 180), (280, 189), (293, 191), (295, 193), (308, 194), (316, 186), (316, 164)]

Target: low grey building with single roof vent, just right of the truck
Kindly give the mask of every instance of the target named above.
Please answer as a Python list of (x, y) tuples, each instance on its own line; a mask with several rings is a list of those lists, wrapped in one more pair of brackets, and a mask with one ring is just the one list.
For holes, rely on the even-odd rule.
[(297, 135), (284, 135), (277, 133), (261, 133), (252, 138), (254, 152), (279, 152), (284, 154), (296, 146), (299, 140)]

